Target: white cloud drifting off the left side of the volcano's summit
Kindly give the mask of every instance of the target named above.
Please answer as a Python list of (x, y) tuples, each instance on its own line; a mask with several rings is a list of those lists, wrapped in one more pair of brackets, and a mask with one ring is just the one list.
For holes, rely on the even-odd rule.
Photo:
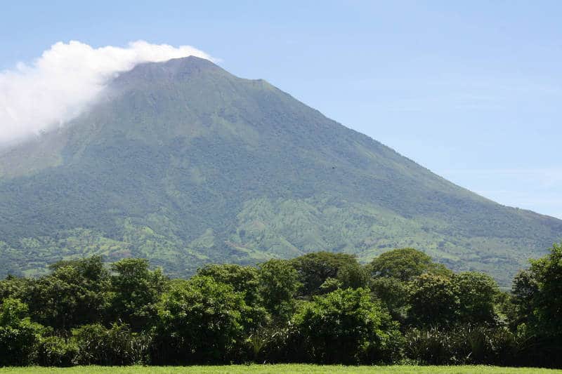
[(126, 48), (92, 48), (79, 41), (58, 42), (31, 65), (19, 63), (0, 72), (0, 144), (61, 126), (95, 100), (116, 74), (140, 62), (189, 55), (211, 60), (191, 46), (135, 41)]

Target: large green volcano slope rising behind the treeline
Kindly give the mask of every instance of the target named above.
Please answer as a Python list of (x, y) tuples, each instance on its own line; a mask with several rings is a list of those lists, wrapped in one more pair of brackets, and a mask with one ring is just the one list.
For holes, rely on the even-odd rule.
[(138, 65), (72, 123), (0, 152), (1, 274), (92, 254), (185, 275), (411, 246), (507, 285), (561, 238), (561, 220), (484, 199), (193, 57)]

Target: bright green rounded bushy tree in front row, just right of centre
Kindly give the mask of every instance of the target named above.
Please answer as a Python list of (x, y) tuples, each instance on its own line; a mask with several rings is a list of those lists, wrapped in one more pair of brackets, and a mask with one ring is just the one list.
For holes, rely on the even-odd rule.
[(315, 296), (296, 316), (297, 328), (318, 363), (377, 362), (391, 359), (400, 342), (398, 324), (370, 299), (368, 290), (338, 289)]

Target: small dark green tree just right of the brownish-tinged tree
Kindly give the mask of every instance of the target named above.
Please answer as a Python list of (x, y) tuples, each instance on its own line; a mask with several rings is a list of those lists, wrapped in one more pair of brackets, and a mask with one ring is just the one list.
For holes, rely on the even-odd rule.
[(459, 321), (464, 323), (493, 323), (495, 303), (499, 295), (496, 281), (478, 272), (455, 274), (452, 286), (459, 298)]

